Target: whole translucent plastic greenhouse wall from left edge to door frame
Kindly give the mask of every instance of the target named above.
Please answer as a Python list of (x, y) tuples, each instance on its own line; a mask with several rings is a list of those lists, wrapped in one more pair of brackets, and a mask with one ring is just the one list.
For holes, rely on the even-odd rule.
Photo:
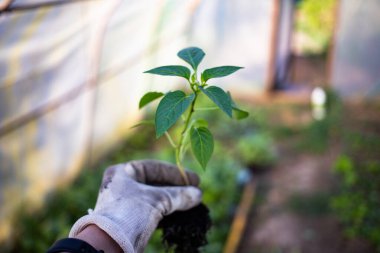
[(183, 64), (176, 53), (198, 46), (207, 54), (201, 68), (245, 67), (225, 83), (215, 79), (232, 92), (260, 92), (267, 78), (272, 1), (7, 2), (12, 11), (0, 13), (0, 241), (20, 203), (40, 202), (128, 134), (147, 90), (181, 84), (144, 70)]

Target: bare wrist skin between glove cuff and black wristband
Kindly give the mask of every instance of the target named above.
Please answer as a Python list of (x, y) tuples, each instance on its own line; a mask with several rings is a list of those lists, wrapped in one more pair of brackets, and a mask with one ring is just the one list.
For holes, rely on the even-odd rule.
[(106, 253), (123, 253), (120, 246), (106, 232), (93, 224), (83, 229), (75, 238), (91, 244), (96, 250), (103, 250)]

